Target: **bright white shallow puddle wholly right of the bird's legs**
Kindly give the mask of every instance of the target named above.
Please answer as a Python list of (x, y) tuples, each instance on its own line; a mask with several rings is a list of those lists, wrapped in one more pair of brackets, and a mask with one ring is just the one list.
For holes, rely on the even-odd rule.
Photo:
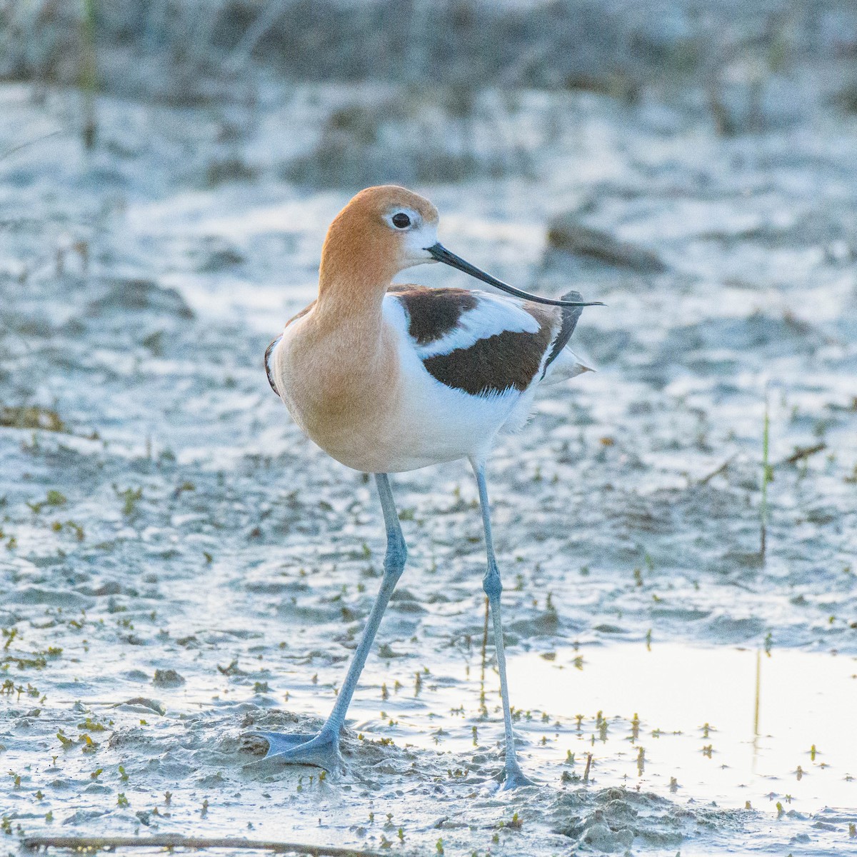
[(616, 645), (518, 658), (512, 676), (528, 705), (571, 712), (585, 700), (600, 711), (607, 740), (582, 726), (572, 752), (658, 794), (767, 811), (857, 804), (854, 656)]

